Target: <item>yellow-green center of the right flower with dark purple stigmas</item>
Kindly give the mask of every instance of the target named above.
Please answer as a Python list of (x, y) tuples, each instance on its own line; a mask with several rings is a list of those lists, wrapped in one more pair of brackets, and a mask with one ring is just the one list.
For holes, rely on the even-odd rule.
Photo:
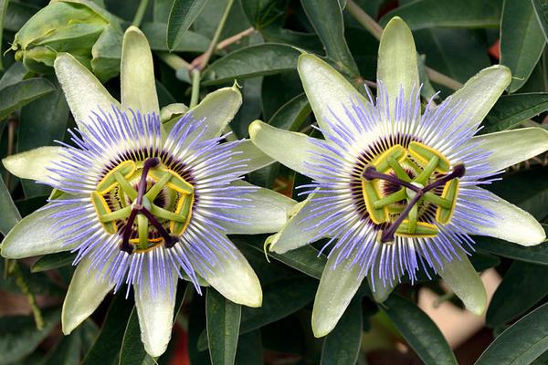
[[(362, 192), (374, 224), (383, 224), (383, 243), (395, 235), (432, 237), (437, 225), (451, 220), (458, 196), (463, 164), (451, 168), (448, 159), (427, 145), (412, 141), (407, 148), (392, 146), (376, 157), (362, 173)], [(427, 214), (430, 207), (436, 214)]]

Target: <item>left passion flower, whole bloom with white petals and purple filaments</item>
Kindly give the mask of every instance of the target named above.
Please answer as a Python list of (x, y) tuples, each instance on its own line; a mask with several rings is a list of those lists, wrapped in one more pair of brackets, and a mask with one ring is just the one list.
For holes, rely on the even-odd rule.
[[(163, 124), (152, 53), (133, 26), (123, 38), (121, 104), (74, 57), (58, 56), (55, 70), (79, 134), (70, 131), (72, 145), (3, 162), (16, 176), (62, 194), (16, 224), (2, 255), (78, 253), (63, 332), (128, 284), (144, 347), (159, 356), (171, 336), (177, 277), (197, 291), (204, 279), (231, 301), (259, 307), (258, 277), (227, 235), (277, 232), (294, 202), (241, 180), (272, 160), (249, 140), (222, 142), (241, 104), (237, 88), (216, 90)], [(184, 107), (163, 114), (170, 109)]]

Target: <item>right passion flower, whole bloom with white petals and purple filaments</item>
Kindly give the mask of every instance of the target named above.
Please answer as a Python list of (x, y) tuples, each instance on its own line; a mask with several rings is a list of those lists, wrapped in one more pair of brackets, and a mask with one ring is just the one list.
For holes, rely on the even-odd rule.
[(480, 187), (548, 149), (548, 132), (538, 128), (475, 135), (510, 83), (509, 69), (481, 70), (440, 105), (430, 100), (421, 115), (415, 43), (396, 17), (381, 38), (375, 100), (318, 57), (301, 55), (298, 70), (325, 140), (258, 120), (249, 134), (312, 179), (306, 203), (267, 244), (280, 254), (331, 238), (312, 311), (315, 335), (332, 330), (364, 276), (383, 301), (420, 268), (433, 269), (482, 313), (486, 293), (467, 257), (470, 235), (520, 245), (545, 238), (531, 214)]

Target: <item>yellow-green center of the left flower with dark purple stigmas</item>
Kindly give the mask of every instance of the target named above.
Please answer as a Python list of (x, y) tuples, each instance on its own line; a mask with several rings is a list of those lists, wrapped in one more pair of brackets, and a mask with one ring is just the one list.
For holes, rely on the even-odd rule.
[(103, 229), (121, 235), (120, 249), (129, 254), (172, 247), (190, 222), (194, 200), (192, 184), (156, 157), (119, 163), (91, 193)]

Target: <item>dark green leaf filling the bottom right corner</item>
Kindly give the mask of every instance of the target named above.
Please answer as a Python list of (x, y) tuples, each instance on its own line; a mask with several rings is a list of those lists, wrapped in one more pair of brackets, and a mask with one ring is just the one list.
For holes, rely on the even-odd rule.
[(475, 365), (529, 364), (548, 350), (548, 303), (491, 342)]

